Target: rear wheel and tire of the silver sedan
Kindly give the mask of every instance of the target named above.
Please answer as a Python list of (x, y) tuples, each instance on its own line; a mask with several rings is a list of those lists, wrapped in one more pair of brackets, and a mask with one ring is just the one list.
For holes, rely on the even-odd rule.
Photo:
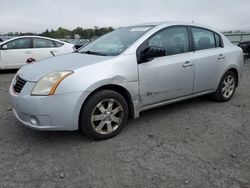
[(227, 71), (221, 78), (220, 84), (213, 94), (213, 98), (219, 102), (229, 101), (235, 93), (237, 81), (236, 74), (232, 71)]

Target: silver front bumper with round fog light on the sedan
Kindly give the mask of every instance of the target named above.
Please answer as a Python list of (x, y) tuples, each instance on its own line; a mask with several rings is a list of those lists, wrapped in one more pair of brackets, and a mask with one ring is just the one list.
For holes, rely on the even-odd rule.
[(27, 82), (17, 94), (11, 84), (10, 103), (15, 117), (36, 130), (77, 130), (82, 92), (31, 96), (34, 85), (34, 82)]

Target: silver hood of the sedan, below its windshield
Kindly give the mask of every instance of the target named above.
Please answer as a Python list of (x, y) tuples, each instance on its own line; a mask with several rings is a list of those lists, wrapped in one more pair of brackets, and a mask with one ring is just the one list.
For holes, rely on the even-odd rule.
[(25, 65), (17, 72), (17, 74), (27, 81), (37, 82), (44, 75), (51, 72), (61, 70), (74, 71), (76, 69), (100, 63), (111, 58), (114, 57), (71, 53)]

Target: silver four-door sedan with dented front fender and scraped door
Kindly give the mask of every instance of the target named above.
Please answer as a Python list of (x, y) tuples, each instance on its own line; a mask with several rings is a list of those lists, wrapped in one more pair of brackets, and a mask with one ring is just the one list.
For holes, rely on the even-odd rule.
[(76, 53), (24, 66), (9, 92), (24, 125), (81, 129), (100, 140), (147, 109), (205, 94), (230, 100), (242, 67), (242, 50), (217, 31), (193, 23), (150, 23), (117, 29)]

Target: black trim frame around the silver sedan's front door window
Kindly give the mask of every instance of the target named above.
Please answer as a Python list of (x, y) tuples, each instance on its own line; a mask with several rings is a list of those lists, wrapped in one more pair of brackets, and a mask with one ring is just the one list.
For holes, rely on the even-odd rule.
[[(147, 45), (148, 41), (150, 39), (152, 39), (154, 36), (156, 36), (157, 34), (159, 34), (160, 32), (163, 32), (167, 29), (171, 29), (171, 28), (177, 28), (177, 27), (183, 27), (186, 29), (187, 31), (187, 37), (188, 37), (188, 51), (184, 52), (184, 53), (188, 53), (188, 52), (192, 52), (192, 43), (191, 43), (191, 39), (190, 39), (190, 34), (189, 34), (189, 28), (187, 25), (173, 25), (173, 26), (167, 26), (167, 27), (164, 27), (162, 29), (160, 29), (159, 31), (155, 32), (154, 34), (152, 34), (150, 37), (148, 37), (136, 50), (136, 57), (137, 57), (137, 63), (140, 64), (139, 62), (139, 55), (140, 55), (140, 52), (142, 50), (142, 48), (145, 47), (145, 45)], [(183, 53), (180, 53), (180, 54), (183, 54)], [(175, 54), (175, 55), (179, 55), (179, 54)]]

